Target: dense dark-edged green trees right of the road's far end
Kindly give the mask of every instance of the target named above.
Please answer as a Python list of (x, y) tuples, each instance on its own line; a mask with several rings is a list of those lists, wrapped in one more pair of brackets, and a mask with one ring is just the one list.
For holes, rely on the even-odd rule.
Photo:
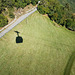
[(38, 11), (41, 14), (48, 14), (49, 18), (59, 25), (75, 31), (75, 15), (69, 3), (61, 5), (58, 0), (41, 0)]

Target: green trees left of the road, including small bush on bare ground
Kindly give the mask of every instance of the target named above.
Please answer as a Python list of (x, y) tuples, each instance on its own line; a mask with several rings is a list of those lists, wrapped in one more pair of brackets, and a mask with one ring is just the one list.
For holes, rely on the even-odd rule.
[[(8, 19), (2, 14), (2, 11), (5, 11), (5, 8), (24, 8), (30, 3), (36, 5), (39, 0), (0, 0), (0, 27), (3, 27), (8, 24)], [(14, 17), (13, 12), (9, 14), (12, 18)]]

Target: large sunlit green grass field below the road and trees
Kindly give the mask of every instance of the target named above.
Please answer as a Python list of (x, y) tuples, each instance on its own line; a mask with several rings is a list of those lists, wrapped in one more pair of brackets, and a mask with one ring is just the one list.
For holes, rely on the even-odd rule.
[(0, 39), (0, 75), (65, 75), (66, 69), (75, 75), (75, 61), (66, 68), (74, 52), (75, 32), (35, 12)]

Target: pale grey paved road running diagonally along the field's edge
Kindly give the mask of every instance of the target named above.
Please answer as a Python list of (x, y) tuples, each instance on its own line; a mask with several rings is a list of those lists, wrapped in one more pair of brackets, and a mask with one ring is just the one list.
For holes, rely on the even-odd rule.
[(37, 10), (37, 8), (35, 8), (33, 11), (21, 16), (20, 18), (17, 19), (17, 21), (15, 23), (13, 23), (12, 25), (10, 25), (7, 29), (5, 29), (4, 31), (2, 31), (0, 33), (0, 38), (3, 37), (7, 32), (9, 32), (12, 28), (14, 28), (16, 25), (18, 25), (21, 21), (23, 21), (25, 18), (27, 18), (29, 15), (31, 15), (32, 13), (34, 13)]

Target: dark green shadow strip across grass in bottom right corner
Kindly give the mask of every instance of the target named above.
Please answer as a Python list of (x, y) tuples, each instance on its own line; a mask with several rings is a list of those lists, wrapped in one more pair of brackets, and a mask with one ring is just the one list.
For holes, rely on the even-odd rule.
[(75, 52), (73, 52), (71, 57), (69, 58), (69, 61), (68, 61), (66, 68), (65, 68), (64, 75), (70, 75), (74, 60), (75, 60)]

